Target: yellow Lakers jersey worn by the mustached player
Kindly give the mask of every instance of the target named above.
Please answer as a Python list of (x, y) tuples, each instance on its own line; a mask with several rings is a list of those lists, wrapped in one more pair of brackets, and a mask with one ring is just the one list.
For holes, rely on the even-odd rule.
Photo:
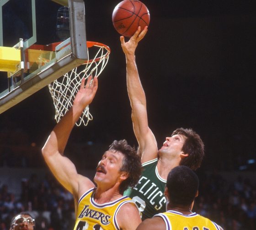
[(96, 188), (90, 189), (80, 197), (74, 230), (119, 230), (118, 210), (123, 204), (136, 204), (127, 196), (109, 203), (97, 204), (93, 199), (95, 190)]

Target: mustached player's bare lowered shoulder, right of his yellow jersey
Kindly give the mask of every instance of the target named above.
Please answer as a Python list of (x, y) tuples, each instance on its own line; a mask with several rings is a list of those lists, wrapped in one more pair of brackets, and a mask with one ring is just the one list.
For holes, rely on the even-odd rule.
[(119, 228), (122, 230), (136, 230), (140, 223), (141, 218), (139, 210), (135, 204), (123, 204), (117, 213), (117, 224), (119, 225)]

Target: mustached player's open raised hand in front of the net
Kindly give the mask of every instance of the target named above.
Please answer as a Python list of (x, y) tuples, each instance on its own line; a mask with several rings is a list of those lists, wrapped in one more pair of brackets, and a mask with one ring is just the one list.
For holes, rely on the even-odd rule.
[(98, 88), (98, 78), (94, 77), (93, 80), (91, 81), (91, 76), (88, 77), (86, 85), (85, 85), (85, 78), (82, 79), (80, 89), (75, 95), (74, 103), (73, 105), (79, 105), (83, 108), (85, 108), (87, 105), (89, 105)]

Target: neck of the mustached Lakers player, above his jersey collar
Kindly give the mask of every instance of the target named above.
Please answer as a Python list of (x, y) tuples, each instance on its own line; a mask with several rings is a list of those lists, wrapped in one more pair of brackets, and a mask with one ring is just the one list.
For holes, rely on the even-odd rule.
[(122, 196), (116, 186), (110, 189), (101, 189), (98, 187), (94, 194), (94, 200), (98, 204), (104, 204), (121, 198)]

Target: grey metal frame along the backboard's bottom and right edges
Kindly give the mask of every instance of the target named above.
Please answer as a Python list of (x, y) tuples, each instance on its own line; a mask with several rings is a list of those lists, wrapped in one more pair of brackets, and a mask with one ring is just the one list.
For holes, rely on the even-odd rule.
[(68, 46), (66, 45), (67, 41), (59, 45), (60, 48), (63, 47), (61, 53), (68, 53), (68, 55), (60, 56), (59, 58), (56, 55), (56, 58), (50, 61), (48, 65), (38, 69), (36, 74), (25, 77), (22, 84), (12, 88), (10, 92), (5, 90), (0, 95), (0, 113), (5, 112), (55, 79), (58, 79), (66, 72), (88, 60), (84, 1), (69, 0), (68, 5), (71, 42)]

